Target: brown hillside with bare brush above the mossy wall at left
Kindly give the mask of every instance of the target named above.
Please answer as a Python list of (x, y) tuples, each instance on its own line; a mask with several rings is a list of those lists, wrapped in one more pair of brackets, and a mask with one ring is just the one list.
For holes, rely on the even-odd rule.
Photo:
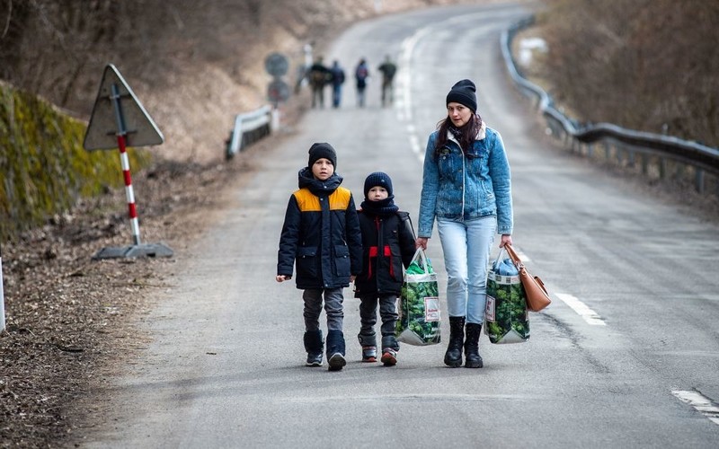
[[(321, 51), (347, 23), (457, 0), (5, 0), (0, 79), (88, 119), (104, 66), (128, 80), (162, 129), (154, 151), (176, 161), (222, 157), (234, 115), (265, 104), (264, 58)], [(352, 60), (354, 55), (351, 56)]]

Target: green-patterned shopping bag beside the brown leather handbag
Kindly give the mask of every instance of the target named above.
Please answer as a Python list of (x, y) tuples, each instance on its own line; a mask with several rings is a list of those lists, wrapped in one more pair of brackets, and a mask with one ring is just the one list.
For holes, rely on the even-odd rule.
[(490, 342), (523, 343), (529, 339), (527, 303), (519, 270), (500, 251), (487, 274), (487, 308), (484, 333)]

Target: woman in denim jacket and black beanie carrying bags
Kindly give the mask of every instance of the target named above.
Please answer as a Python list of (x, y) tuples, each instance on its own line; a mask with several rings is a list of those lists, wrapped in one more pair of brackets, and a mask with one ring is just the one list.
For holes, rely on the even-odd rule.
[[(447, 94), (447, 118), (427, 142), (416, 245), (427, 249), (437, 219), (447, 269), (449, 344), (444, 363), (481, 368), (479, 335), (486, 305), (487, 265), (496, 233), (511, 244), (510, 164), (502, 136), (476, 113), (475, 84)], [(465, 339), (466, 323), (466, 339)]]

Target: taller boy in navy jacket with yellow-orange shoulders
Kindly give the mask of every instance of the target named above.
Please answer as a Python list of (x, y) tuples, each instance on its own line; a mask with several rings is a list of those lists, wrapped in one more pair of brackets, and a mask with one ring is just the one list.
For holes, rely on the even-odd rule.
[(299, 189), (289, 198), (280, 236), (277, 282), (292, 277), (297, 263), (297, 288), (304, 290), (305, 336), (308, 366), (322, 365), (323, 339), (319, 327), (324, 294), (327, 315), (327, 362), (330, 371), (342, 370), (342, 288), (359, 273), (362, 238), (354, 200), (340, 187), (334, 172), (337, 154), (330, 144), (309, 149), (309, 162), (299, 171)]

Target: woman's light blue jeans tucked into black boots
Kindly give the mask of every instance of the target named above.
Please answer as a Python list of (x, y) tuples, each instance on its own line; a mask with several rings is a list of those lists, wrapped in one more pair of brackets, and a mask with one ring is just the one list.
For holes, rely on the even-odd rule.
[(482, 324), (487, 304), (487, 267), (497, 233), (497, 217), (468, 221), (437, 219), (439, 241), (447, 269), (449, 316), (466, 316), (466, 322)]

